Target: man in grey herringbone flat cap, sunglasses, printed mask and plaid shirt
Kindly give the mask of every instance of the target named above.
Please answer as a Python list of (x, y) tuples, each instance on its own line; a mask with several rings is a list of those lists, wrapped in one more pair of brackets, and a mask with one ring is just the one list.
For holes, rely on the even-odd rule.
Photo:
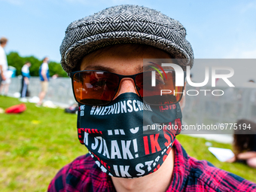
[[(169, 64), (193, 66), (185, 36), (177, 20), (136, 5), (107, 8), (68, 26), (61, 63), (79, 105), (78, 139), (89, 153), (59, 170), (48, 191), (256, 190), (189, 157), (175, 139), (184, 86), (175, 86)], [(167, 88), (175, 94), (162, 96)]]

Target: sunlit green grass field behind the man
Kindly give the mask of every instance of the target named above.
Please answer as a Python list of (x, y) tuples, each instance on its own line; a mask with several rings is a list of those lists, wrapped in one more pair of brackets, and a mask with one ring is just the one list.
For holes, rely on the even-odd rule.
[[(0, 96), (0, 108), (19, 104), (18, 99)], [(87, 153), (78, 141), (76, 115), (61, 108), (37, 108), (26, 103), (22, 114), (0, 114), (0, 189), (46, 191), (58, 170)], [(256, 182), (256, 169), (241, 163), (221, 163), (207, 149), (206, 139), (178, 136), (187, 154), (209, 160), (215, 166)], [(231, 145), (212, 142), (213, 147)]]

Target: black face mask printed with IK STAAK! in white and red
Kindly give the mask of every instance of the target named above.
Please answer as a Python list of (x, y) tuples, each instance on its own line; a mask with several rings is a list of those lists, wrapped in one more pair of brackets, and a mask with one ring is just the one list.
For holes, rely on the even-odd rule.
[(180, 130), (178, 104), (147, 105), (135, 93), (123, 93), (107, 106), (79, 106), (78, 139), (102, 172), (114, 177), (155, 172)]

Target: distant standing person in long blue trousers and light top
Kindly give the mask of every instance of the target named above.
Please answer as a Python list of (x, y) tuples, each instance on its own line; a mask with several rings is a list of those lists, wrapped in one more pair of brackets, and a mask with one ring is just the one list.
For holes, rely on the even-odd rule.
[(31, 66), (30, 62), (26, 62), (23, 68), (21, 69), (21, 75), (23, 76), (21, 80), (21, 90), (20, 90), (20, 101), (26, 102), (26, 96), (29, 96), (29, 67)]

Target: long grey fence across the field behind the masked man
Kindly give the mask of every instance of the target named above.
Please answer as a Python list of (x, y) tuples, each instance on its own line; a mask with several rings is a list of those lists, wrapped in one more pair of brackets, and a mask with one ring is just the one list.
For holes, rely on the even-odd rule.
[[(20, 92), (21, 79), (12, 78), (9, 95)], [(245, 118), (256, 121), (256, 88), (254, 87), (215, 87), (214, 90), (223, 90), (223, 96), (213, 96), (212, 87), (197, 88), (197, 96), (186, 95), (183, 121), (187, 124), (196, 123), (236, 123), (237, 120)], [(30, 96), (38, 96), (41, 90), (39, 78), (30, 78)], [(187, 86), (186, 90), (196, 90), (195, 87)], [(196, 94), (190, 91), (190, 95)], [(215, 94), (217, 94), (215, 92)], [(46, 100), (61, 105), (71, 105), (75, 102), (72, 93), (70, 78), (50, 79), (49, 90)]]

